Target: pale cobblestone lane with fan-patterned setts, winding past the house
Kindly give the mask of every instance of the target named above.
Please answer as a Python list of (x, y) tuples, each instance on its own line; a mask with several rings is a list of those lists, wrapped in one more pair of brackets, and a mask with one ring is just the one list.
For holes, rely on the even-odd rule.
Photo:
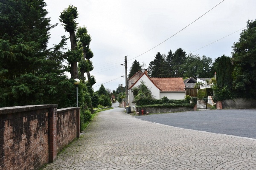
[(115, 108), (43, 170), (256, 170), (256, 140), (171, 127)]

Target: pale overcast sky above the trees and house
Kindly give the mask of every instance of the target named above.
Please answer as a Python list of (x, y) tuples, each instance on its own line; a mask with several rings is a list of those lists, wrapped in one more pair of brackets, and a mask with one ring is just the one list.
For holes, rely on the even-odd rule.
[[(94, 91), (101, 84), (111, 91), (116, 90), (119, 84), (125, 85), (125, 77), (122, 77), (125, 75), (125, 67), (121, 65), (124, 64), (125, 56), (128, 74), (135, 59), (147, 68), (157, 52), (167, 55), (170, 50), (175, 52), (177, 48), (182, 48), (186, 54), (205, 55), (213, 61), (223, 54), (231, 57), (231, 46), (239, 41), (239, 34), (247, 26), (247, 20), (256, 19), (256, 0), (45, 2), (51, 24), (58, 23), (50, 31), (49, 47), (58, 44), (61, 36), (69, 36), (59, 21), (61, 11), (71, 4), (77, 7), (78, 25), (86, 26), (92, 39), (90, 49), (94, 54), (91, 59), (94, 69), (90, 73), (96, 77)], [(70, 48), (70, 41), (67, 42)]]

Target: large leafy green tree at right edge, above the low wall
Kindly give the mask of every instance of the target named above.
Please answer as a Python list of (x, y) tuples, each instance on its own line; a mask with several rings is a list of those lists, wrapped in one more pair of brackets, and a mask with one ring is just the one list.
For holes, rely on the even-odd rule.
[[(256, 96), (256, 20), (247, 21), (247, 29), (232, 46), (233, 88), (241, 94)], [(218, 82), (218, 78), (217, 78)]]

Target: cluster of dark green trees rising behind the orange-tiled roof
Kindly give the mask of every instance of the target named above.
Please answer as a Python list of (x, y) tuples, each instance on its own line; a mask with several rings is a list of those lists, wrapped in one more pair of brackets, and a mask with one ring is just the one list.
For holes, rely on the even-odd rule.
[(149, 77), (212, 77), (212, 59), (206, 56), (189, 54), (182, 48), (168, 55), (158, 52), (148, 65)]

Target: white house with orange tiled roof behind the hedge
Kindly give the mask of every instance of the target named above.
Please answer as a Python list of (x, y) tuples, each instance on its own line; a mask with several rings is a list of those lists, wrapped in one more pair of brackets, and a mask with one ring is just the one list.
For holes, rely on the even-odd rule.
[(128, 101), (130, 106), (134, 99), (131, 89), (145, 82), (145, 85), (151, 90), (155, 99), (162, 99), (166, 96), (168, 99), (184, 99), (186, 95), (185, 85), (181, 77), (155, 78), (148, 77), (147, 70), (135, 81), (131, 82), (128, 88)]

